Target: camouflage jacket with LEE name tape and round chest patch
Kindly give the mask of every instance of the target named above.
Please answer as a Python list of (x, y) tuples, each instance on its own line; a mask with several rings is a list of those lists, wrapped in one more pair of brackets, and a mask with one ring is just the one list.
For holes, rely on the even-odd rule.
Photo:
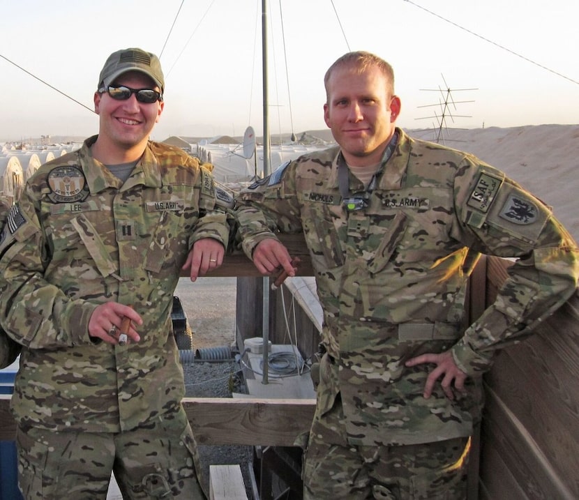
[[(23, 345), (12, 409), (24, 425), (119, 432), (179, 409), (174, 289), (193, 243), (227, 243), (209, 169), (149, 142), (126, 182), (82, 149), (43, 165), (0, 243), (0, 320)], [(89, 338), (100, 303), (133, 305), (141, 340)]]

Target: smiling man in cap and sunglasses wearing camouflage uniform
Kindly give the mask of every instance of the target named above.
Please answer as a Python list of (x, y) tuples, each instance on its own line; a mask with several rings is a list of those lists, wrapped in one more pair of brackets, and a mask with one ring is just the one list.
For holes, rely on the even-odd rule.
[(210, 170), (149, 141), (163, 89), (157, 56), (111, 54), (98, 135), (40, 167), (8, 215), (0, 319), (22, 344), (26, 499), (105, 499), (111, 471), (125, 499), (204, 498), (171, 310), (181, 269), (219, 266), (229, 227)]

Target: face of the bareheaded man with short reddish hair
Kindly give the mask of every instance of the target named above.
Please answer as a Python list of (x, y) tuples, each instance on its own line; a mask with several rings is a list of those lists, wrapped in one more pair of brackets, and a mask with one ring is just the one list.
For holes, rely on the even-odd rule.
[(376, 165), (391, 139), (400, 99), (378, 66), (334, 68), (326, 83), (324, 120), (349, 165)]

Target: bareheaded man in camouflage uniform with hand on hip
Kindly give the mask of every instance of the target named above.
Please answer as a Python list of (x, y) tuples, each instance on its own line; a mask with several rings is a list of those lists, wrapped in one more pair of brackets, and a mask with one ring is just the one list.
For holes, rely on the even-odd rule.
[[(481, 375), (573, 293), (579, 253), (539, 199), (472, 155), (395, 126), (388, 63), (349, 53), (326, 73), (338, 147), (241, 193), (243, 249), (294, 275), (276, 232), (303, 232), (324, 310), (306, 499), (463, 499)], [(514, 257), (497, 300), (464, 324), (481, 254)]]

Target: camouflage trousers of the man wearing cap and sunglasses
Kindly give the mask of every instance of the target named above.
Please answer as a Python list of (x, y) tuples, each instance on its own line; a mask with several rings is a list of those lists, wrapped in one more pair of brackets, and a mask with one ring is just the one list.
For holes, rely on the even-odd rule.
[(19, 427), (18, 480), (26, 500), (105, 500), (114, 471), (125, 500), (205, 499), (197, 446), (186, 420), (106, 432)]

